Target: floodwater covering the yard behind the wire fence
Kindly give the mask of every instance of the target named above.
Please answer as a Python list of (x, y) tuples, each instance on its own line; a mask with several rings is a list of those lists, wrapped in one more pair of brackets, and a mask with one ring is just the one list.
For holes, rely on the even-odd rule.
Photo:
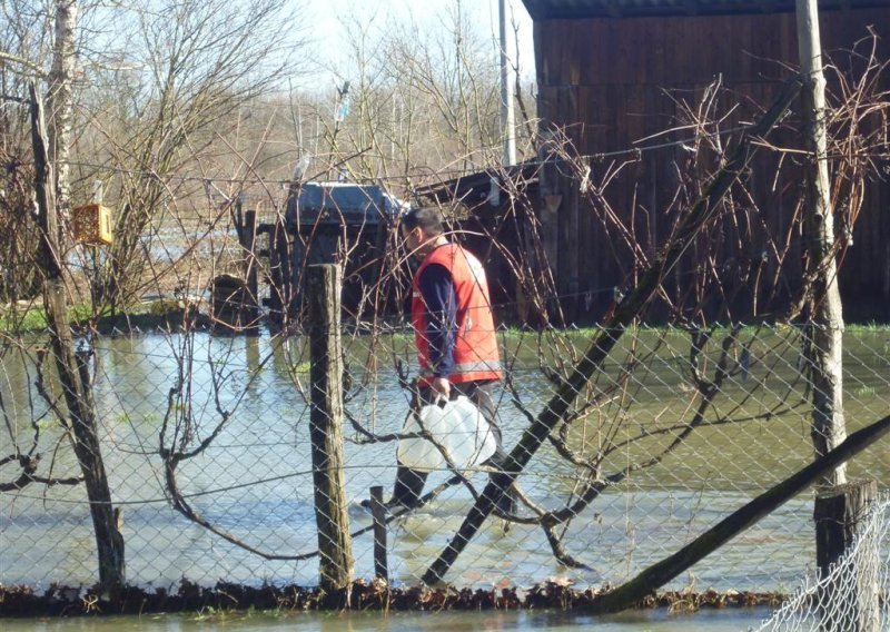
[[(407, 396), (398, 387), (392, 365), (394, 357), (409, 357), (408, 345), (404, 339), (389, 342), (368, 356), (367, 339), (348, 344), (354, 388), (347, 412), (372, 432), (397, 432)], [(696, 428), (669, 451), (664, 450), (670, 443), (665, 437), (675, 436), (690, 418), (688, 375), (676, 359), (682, 361), (684, 352), (679, 342), (676, 349), (670, 348), (670, 340), (653, 338), (645, 345), (664, 357), (651, 358), (651, 368), (624, 391), (634, 405), (619, 407), (619, 393), (567, 437), (584, 451), (606, 445), (606, 441), (623, 445), (603, 462), (602, 473), (629, 472), (566, 525), (566, 551), (587, 569), (561, 564), (540, 526), (517, 524), (505, 532), (501, 521), (490, 520), (451, 570), (449, 583), (527, 587), (555, 576), (581, 587), (615, 584), (673, 553), (809, 463), (809, 421), (792, 343), (773, 334), (752, 344), (759, 362), (746, 369), (744, 379), (728, 384), (709, 407), (706, 416), (713, 425)], [(880, 337), (850, 338), (846, 382), (850, 429), (888, 409), (889, 347)], [(516, 393), (531, 414), (550, 396), (537, 354), (534, 345), (520, 349), (513, 371)], [(318, 562), (313, 553), (318, 543), (304, 397), (308, 379), (305, 345), (299, 340), (281, 345), (268, 337), (151, 334), (102, 338), (97, 356), (97, 409), (112, 497), (123, 511), (128, 581), (172, 591), (184, 577), (201, 585), (217, 581), (316, 585)], [(182, 363), (179, 357), (191, 361)], [(378, 361), (376, 368), (368, 357)], [(16, 448), (27, 452), (37, 436), (36, 451), (44, 455), (41, 473), (76, 474), (76, 461), (36, 392), (33, 366), (14, 361), (10, 355), (3, 359), (0, 388), (12, 432), (2, 435), (0, 454)], [(620, 367), (619, 361), (615, 366)], [(601, 386), (605, 388), (610, 379), (610, 375), (601, 376)], [(188, 401), (177, 398), (179, 384), (190, 393)], [(357, 388), (359, 384), (364, 386)], [(510, 448), (528, 421), (508, 396), (502, 401), (500, 417)], [(744, 421), (723, 423), (728, 419)], [(393, 481), (395, 444), (362, 443), (362, 435), (350, 425), (345, 434), (349, 520), (358, 532), (370, 524), (370, 516), (359, 506), (368, 488), (375, 484), (388, 488)], [(202, 442), (207, 445), (199, 448)], [(161, 447), (189, 454), (176, 470), (177, 484), (190, 506), (229, 541), (174, 511)], [(661, 454), (661, 461), (636, 468), (644, 454)], [(851, 464), (851, 474), (868, 473), (887, 487), (887, 454), (886, 445), (871, 448)], [(538, 506), (554, 508), (575, 498), (590, 475), (545, 444), (520, 484)], [(444, 478), (446, 473), (431, 475), (427, 488)], [(472, 476), (472, 482), (484, 485), (485, 475)], [(3, 494), (0, 582), (37, 589), (52, 582), (96, 582), (95, 543), (83, 496), (82, 486), (30, 485)], [(394, 582), (417, 582), (453, 537), (471, 503), (466, 487), (453, 487), (431, 505), (390, 524), (388, 561)], [(672, 586), (792, 590), (812, 570), (811, 507), (809, 494), (789, 502)], [(530, 515), (527, 511), (525, 515)], [(372, 576), (370, 536), (357, 533), (353, 550), (356, 576)]]

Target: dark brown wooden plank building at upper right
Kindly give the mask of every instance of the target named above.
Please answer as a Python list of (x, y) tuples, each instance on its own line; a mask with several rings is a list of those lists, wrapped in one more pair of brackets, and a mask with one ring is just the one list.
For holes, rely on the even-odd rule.
[[(542, 126), (565, 131), (572, 150), (587, 157), (594, 181), (616, 170), (604, 195), (647, 253), (664, 244), (670, 213), (678, 208), (682, 176), (676, 165), (688, 159), (690, 144), (683, 139), (694, 131), (679, 129), (688, 120), (684, 108), (696, 107), (719, 79), (725, 92), (715, 110), (728, 112), (721, 130), (743, 126), (770, 106), (799, 65), (794, 2), (789, 0), (523, 2), (534, 20)], [(878, 57), (890, 59), (890, 0), (819, 0), (819, 9), (822, 49), (841, 72), (849, 70), (848, 78), (861, 59), (851, 61), (843, 51), (868, 38), (870, 28), (883, 38), (878, 40)], [(832, 73), (827, 75), (829, 89), (837, 93)], [(890, 90), (887, 75), (879, 89)], [(794, 110), (799, 111), (797, 103)], [(877, 125), (886, 126), (887, 120)], [(672, 128), (675, 131), (663, 134)], [(779, 130), (770, 139), (802, 147), (790, 131)], [(767, 154), (758, 155), (748, 178), (751, 204), (759, 208), (763, 226), (749, 230), (744, 247), (751, 258), (762, 256), (770, 271), (780, 261), (767, 251), (762, 235), (780, 238), (788, 233), (801, 184), (799, 170), (783, 168), (778, 176), (780, 158), (761, 159)], [(625, 166), (619, 169), (621, 165)], [(876, 166), (884, 172), (866, 187), (841, 267), (844, 313), (851, 319), (890, 319), (890, 165), (884, 158)], [(541, 194), (551, 196), (555, 207), (544, 211), (544, 220), (551, 227), (548, 251), (558, 293), (593, 296), (586, 304), (570, 300), (568, 312), (571, 319), (595, 320), (614, 289), (633, 284), (633, 257), (580, 195), (577, 178), (542, 178)], [(839, 219), (841, 235), (842, 223)], [(787, 239), (791, 250), (781, 263), (782, 274), (773, 287), (762, 288), (771, 296), (775, 284), (785, 286), (778, 289), (787, 296), (792, 294), (800, 279), (800, 236), (790, 234)], [(789, 265), (789, 259), (798, 263)]]

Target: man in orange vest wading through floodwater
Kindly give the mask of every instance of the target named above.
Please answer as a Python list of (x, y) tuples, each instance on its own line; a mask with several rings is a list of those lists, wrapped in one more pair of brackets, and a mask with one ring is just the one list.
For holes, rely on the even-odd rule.
[[(413, 407), (439, 396), (466, 395), (492, 425), (497, 450), (486, 464), (498, 466), (506, 453), (493, 392), (503, 374), (485, 270), (471, 253), (448, 241), (438, 209), (412, 209), (402, 216), (400, 227), (406, 248), (421, 261), (411, 306), (421, 364), (419, 402)], [(387, 505), (416, 505), (426, 476), (399, 464)], [(498, 507), (513, 513), (512, 495), (505, 494)]]

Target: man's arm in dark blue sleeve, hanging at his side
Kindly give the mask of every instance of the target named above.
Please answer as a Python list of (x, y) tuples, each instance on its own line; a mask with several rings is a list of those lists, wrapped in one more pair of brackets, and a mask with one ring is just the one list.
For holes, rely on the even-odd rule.
[[(454, 371), (454, 344), (457, 337), (457, 295), (445, 266), (433, 264), (417, 279), (426, 307), (426, 339), (434, 377), (447, 377)], [(438, 391), (438, 388), (437, 388)]]

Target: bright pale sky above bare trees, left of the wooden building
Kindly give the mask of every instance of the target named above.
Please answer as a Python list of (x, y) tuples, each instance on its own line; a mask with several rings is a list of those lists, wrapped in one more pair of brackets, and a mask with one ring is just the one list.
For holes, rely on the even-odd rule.
[[(333, 42), (344, 41), (344, 18), (358, 18), (368, 20), (395, 20), (407, 18), (414, 13), (421, 20), (437, 20), (443, 11), (456, 6), (458, 0), (312, 0), (309, 12), (314, 23), (314, 38), (318, 38), (324, 47), (324, 40)], [(484, 33), (491, 34), (493, 46), (498, 38), (497, 0), (459, 0), (461, 11), (471, 17)], [(522, 0), (506, 0), (507, 16), (518, 26), (520, 73), (526, 81), (534, 81), (534, 47), (532, 42), (532, 18), (525, 10)], [(508, 18), (510, 20), (510, 18)], [(325, 57), (336, 57), (336, 45), (324, 51)], [(514, 56), (515, 57), (515, 56)], [(327, 77), (325, 77), (327, 75)], [(336, 81), (333, 72), (322, 72), (320, 79)]]

